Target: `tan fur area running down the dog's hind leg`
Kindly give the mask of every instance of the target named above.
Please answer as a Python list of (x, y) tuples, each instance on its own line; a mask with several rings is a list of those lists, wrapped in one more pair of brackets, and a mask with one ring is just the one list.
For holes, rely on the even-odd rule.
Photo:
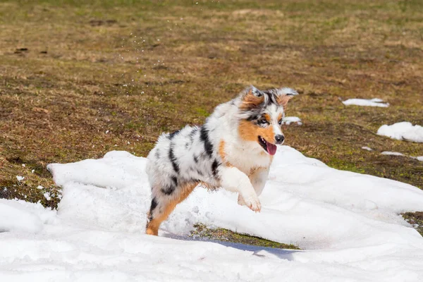
[[(198, 185), (198, 182), (190, 182), (190, 183), (185, 183), (184, 185), (180, 185), (178, 188), (176, 188), (180, 191), (180, 194), (178, 195), (178, 197), (171, 198), (171, 200), (168, 200), (162, 212), (154, 216), (154, 219), (152, 219), (152, 221), (149, 221), (149, 223), (147, 223), (147, 228), (145, 230), (145, 233), (149, 235), (158, 235), (159, 226), (161, 222), (165, 221), (168, 218), (169, 214), (173, 212), (173, 209), (175, 209), (176, 205), (182, 202), (183, 200), (185, 200), (186, 197), (190, 195), (192, 190), (194, 190), (194, 188), (197, 185)], [(147, 214), (149, 216), (149, 213)]]

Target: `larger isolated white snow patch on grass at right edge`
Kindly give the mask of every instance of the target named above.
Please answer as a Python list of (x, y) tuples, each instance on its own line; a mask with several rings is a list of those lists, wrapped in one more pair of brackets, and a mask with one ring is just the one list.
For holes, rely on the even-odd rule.
[(377, 130), (378, 135), (384, 135), (397, 140), (410, 142), (423, 142), (423, 127), (412, 125), (407, 121), (394, 123), (393, 125), (382, 125)]

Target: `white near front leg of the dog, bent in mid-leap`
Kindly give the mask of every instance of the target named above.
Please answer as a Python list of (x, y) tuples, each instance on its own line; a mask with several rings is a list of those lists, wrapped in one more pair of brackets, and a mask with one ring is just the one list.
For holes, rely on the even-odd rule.
[(223, 188), (232, 192), (238, 192), (247, 207), (254, 212), (260, 212), (262, 204), (260, 204), (250, 178), (245, 173), (233, 166), (220, 166), (219, 177), (221, 178), (221, 186)]

